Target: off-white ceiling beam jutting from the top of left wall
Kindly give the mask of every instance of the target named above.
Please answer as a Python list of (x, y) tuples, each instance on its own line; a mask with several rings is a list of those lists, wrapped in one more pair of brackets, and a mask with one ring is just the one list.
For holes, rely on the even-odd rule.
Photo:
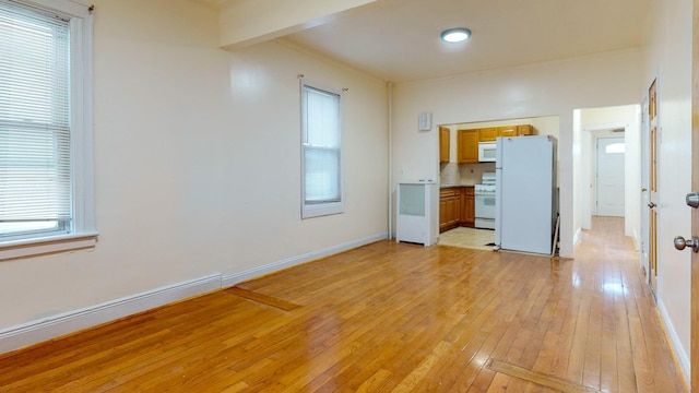
[(238, 49), (327, 23), (377, 0), (228, 0), (220, 11), (218, 41)]

